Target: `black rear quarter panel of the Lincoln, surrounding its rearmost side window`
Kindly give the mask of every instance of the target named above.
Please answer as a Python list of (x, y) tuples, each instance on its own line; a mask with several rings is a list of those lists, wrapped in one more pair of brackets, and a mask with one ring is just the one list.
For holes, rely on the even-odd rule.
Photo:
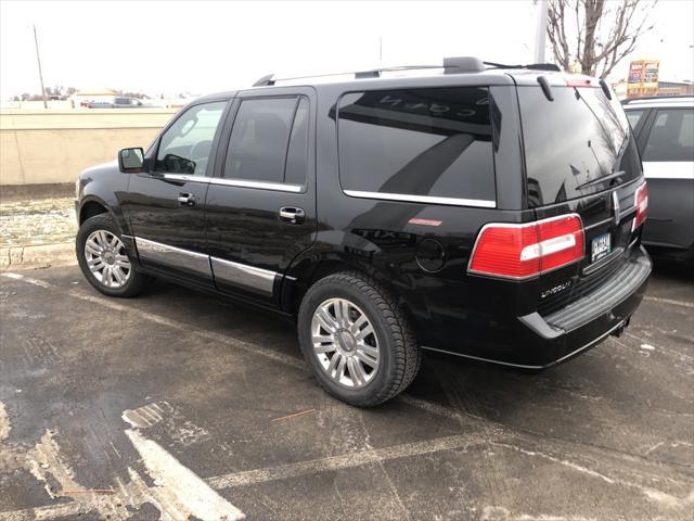
[[(412, 319), (422, 345), (463, 352), (466, 344), (507, 342), (507, 329), (493, 326), (500, 323), (500, 316), (515, 320), (516, 316), (529, 313), (532, 303), (526, 302), (522, 285), (535, 282), (520, 284), (470, 276), (466, 269), (477, 233), (485, 224), (535, 218), (532, 211), (520, 209), (525, 194), (514, 87), (491, 89), (500, 107), (492, 114), (498, 208), (346, 195), (338, 176), (336, 123), (330, 117), (331, 109), (345, 91), (348, 90), (319, 90), (318, 234), (313, 246), (293, 263), (287, 275), (306, 280), (321, 263), (368, 274), (396, 295)], [(422, 266), (430, 241), (442, 250), (440, 269), (427, 270)]]

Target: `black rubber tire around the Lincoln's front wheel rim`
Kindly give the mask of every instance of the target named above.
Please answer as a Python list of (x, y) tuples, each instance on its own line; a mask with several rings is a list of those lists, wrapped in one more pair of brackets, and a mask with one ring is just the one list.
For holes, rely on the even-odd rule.
[(82, 275), (91, 285), (104, 295), (134, 296), (139, 294), (147, 282), (149, 277), (138, 270), (133, 262), (136, 259), (133, 259), (127, 252), (126, 255), (128, 255), (128, 260), (130, 260), (130, 275), (128, 276), (126, 283), (120, 288), (110, 288), (104, 285), (104, 283), (102, 283), (89, 269), (87, 258), (85, 256), (85, 244), (89, 236), (98, 230), (107, 231), (123, 241), (123, 239), (120, 239), (120, 230), (108, 214), (99, 214), (82, 223), (79, 227), (75, 241), (77, 262), (79, 263), (79, 268), (81, 269)]

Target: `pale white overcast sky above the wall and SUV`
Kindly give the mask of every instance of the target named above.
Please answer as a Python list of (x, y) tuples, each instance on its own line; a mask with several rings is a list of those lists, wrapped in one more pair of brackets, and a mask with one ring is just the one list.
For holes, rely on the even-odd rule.
[[(101, 2), (0, 0), (0, 98), (47, 86), (172, 94), (253, 84), (275, 72), (440, 63), (442, 56), (530, 63), (531, 0), (460, 2)], [(694, 1), (661, 0), (631, 58), (660, 59), (660, 79), (694, 79)], [(551, 54), (548, 53), (548, 59)], [(616, 75), (625, 76), (629, 59)]]

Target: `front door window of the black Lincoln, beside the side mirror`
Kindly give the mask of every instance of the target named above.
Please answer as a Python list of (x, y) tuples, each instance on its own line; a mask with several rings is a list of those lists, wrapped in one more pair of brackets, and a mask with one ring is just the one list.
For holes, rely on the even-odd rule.
[(154, 169), (204, 176), (226, 105), (224, 101), (202, 103), (181, 114), (162, 136)]

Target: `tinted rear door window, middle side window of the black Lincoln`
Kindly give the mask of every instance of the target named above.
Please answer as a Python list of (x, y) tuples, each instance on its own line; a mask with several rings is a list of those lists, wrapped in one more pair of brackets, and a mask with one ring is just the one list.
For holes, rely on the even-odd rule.
[(301, 185), (307, 151), (307, 98), (243, 100), (231, 130), (224, 177)]

